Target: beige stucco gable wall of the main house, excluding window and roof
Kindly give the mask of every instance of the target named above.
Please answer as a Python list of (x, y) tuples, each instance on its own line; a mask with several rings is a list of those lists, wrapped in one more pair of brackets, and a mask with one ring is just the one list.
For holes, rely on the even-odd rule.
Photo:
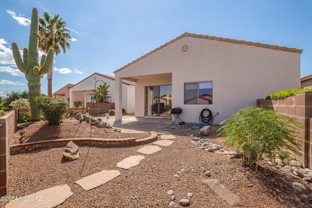
[[(179, 52), (184, 42), (192, 45), (188, 55)], [(172, 79), (149, 76), (163, 73), (172, 73)], [(256, 99), (300, 88), (300, 54), (184, 37), (117, 71), (115, 77), (137, 79), (136, 116), (144, 116), (145, 86), (172, 83), (173, 108), (182, 108), (183, 121), (198, 123), (201, 110), (209, 108), (218, 112), (214, 123), (220, 123), (239, 109), (255, 106)], [(213, 81), (213, 104), (184, 105), (184, 83), (207, 81)]]

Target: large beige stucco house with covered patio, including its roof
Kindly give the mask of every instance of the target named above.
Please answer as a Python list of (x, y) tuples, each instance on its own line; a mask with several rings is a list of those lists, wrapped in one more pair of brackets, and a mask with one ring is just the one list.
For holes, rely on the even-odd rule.
[[(182, 121), (199, 123), (208, 108), (219, 124), (278, 90), (300, 88), (301, 49), (184, 33), (116, 70), (115, 116), (122, 119), (121, 80), (136, 83), (137, 117), (162, 116), (155, 97), (170, 95)], [(159, 100), (159, 99), (158, 99)]]

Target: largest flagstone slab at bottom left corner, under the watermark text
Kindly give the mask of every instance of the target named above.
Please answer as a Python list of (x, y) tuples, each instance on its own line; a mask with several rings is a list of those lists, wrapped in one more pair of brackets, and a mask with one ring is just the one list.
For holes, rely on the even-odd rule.
[(11, 201), (5, 205), (5, 208), (54, 208), (62, 204), (71, 195), (73, 195), (73, 192), (71, 192), (70, 187), (65, 184), (40, 190), (36, 193), (24, 196), (23, 199), (19, 197), (17, 201)]

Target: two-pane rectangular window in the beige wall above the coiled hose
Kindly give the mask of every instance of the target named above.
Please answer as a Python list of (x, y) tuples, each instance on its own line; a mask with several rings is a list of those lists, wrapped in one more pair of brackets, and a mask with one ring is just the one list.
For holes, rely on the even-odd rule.
[(184, 104), (213, 104), (213, 82), (185, 83)]

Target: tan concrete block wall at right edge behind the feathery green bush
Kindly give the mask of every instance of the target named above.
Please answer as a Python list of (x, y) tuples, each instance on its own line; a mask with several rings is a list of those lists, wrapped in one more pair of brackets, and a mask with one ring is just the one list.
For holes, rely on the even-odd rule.
[(300, 136), (309, 142), (301, 144), (302, 155), (296, 155), (296, 158), (304, 168), (312, 168), (312, 92), (278, 100), (257, 100), (257, 106), (295, 118), (303, 126)]

